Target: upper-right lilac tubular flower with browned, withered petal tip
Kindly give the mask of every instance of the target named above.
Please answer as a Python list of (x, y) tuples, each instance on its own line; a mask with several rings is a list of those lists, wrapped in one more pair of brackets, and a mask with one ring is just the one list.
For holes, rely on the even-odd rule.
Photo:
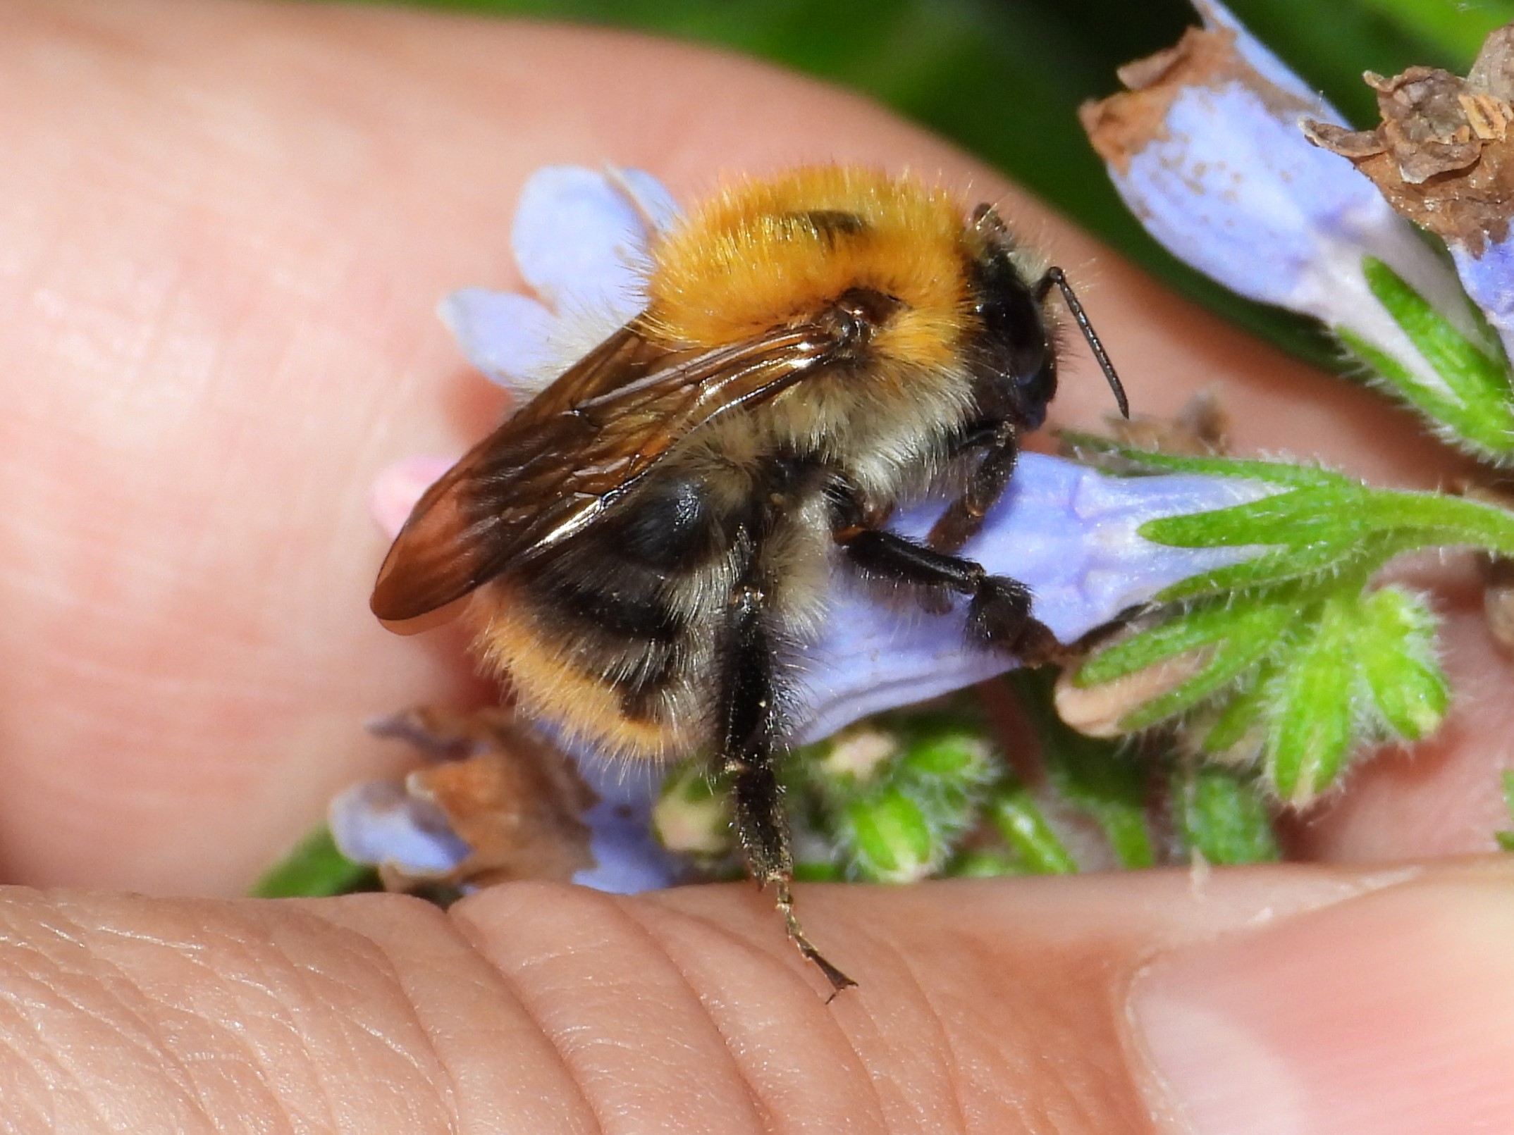
[(1311, 315), (1449, 393), (1372, 294), (1363, 259), (1387, 263), (1472, 334), (1456, 277), (1372, 182), (1301, 129), (1304, 120), (1338, 124), (1340, 114), (1222, 5), (1195, 6), (1204, 30), (1122, 70), (1132, 89), (1083, 110), (1120, 197), (1201, 272)]

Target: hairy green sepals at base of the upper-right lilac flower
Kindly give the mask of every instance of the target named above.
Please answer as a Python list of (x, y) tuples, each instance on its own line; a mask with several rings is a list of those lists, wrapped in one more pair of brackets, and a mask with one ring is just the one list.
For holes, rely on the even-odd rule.
[(1514, 454), (1514, 390), (1508, 362), (1488, 336), (1464, 334), (1423, 295), (1376, 257), (1364, 257), (1367, 288), (1403, 328), (1444, 386), (1431, 386), (1391, 354), (1349, 327), (1335, 334), (1375, 372), (1376, 381), (1407, 401), (1444, 440), (1478, 457), (1506, 462)]

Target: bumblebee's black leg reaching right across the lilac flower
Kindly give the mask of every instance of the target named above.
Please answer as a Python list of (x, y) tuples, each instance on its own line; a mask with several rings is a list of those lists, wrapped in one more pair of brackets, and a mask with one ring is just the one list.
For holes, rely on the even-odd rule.
[(868, 528), (837, 537), (851, 561), (864, 575), (927, 589), (966, 595), (967, 637), (984, 646), (1013, 654), (1026, 664), (1054, 658), (1061, 643), (1046, 623), (1031, 616), (1031, 590), (1017, 580), (989, 575), (983, 564), (907, 540), (895, 533)]

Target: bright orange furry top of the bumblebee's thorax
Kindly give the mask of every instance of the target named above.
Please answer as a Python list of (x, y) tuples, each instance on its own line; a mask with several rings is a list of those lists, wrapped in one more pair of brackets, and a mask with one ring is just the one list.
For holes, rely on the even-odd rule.
[(742, 342), (868, 288), (910, 312), (892, 351), (940, 365), (969, 318), (960, 203), (877, 169), (808, 166), (730, 186), (650, 254), (645, 319), (669, 344)]

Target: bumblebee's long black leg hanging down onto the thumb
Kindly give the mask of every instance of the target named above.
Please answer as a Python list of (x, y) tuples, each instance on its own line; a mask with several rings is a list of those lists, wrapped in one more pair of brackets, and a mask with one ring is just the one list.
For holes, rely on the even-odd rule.
[(760, 589), (737, 587), (725, 633), (719, 760), (731, 778), (736, 837), (757, 882), (774, 887), (778, 913), (799, 953), (815, 962), (834, 993), (840, 993), (857, 982), (815, 949), (793, 913), (793, 852), (783, 817), (783, 788), (774, 770), (778, 722), (774, 642), (763, 622)]

